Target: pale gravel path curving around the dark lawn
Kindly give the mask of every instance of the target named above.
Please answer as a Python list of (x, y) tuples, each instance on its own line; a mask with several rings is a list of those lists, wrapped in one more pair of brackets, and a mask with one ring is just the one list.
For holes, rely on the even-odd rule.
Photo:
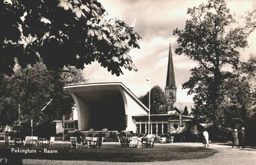
[[(62, 141), (55, 141), (55, 143), (69, 143)], [(111, 143), (106, 142), (103, 144), (116, 144), (120, 145), (120, 143)], [(155, 144), (155, 145), (183, 145), (183, 146), (203, 146), (202, 143), (172, 143), (172, 144)], [(213, 156), (204, 159), (191, 159), (191, 160), (179, 160), (179, 161), (158, 161), (158, 162), (138, 162), (138, 163), (125, 163), (125, 162), (99, 162), (99, 161), (56, 161), (56, 160), (33, 160), (33, 159), (23, 159), (23, 164), (47, 164), (47, 165), (55, 165), (55, 164), (73, 164), (73, 165), (81, 165), (81, 164), (93, 164), (93, 165), (116, 165), (116, 164), (134, 164), (134, 165), (146, 165), (146, 164), (154, 164), (154, 165), (162, 165), (162, 164), (172, 164), (172, 165), (234, 165), (234, 164), (243, 164), (243, 165), (252, 165), (256, 164), (256, 149), (237, 149), (231, 148), (231, 146), (227, 145), (217, 145), (210, 144), (209, 148), (217, 150), (218, 153), (215, 153)], [(173, 153), (175, 154), (175, 153)]]

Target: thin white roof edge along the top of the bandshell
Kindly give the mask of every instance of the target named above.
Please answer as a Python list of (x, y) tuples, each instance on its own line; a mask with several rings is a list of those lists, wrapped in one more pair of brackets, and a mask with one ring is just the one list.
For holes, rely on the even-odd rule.
[(132, 96), (136, 100), (137, 103), (140, 104), (140, 106), (143, 107), (143, 109), (146, 112), (149, 112), (148, 108), (137, 98), (123, 83), (121, 82), (115, 82), (115, 83), (86, 83), (86, 84), (78, 84), (78, 85), (68, 85), (65, 86), (64, 89), (72, 88), (72, 87), (86, 87), (86, 86), (97, 86), (97, 85), (120, 85), (122, 89), (124, 89), (128, 94)]

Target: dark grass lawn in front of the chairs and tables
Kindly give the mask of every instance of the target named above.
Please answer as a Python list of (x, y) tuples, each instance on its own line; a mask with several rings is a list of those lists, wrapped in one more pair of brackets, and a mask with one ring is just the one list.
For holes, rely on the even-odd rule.
[[(202, 159), (217, 151), (203, 147), (155, 145), (154, 148), (122, 148), (120, 145), (102, 144), (100, 149), (70, 149), (70, 144), (54, 144), (50, 147), (13, 147), (15, 149), (34, 149), (36, 153), (11, 153), (12, 146), (0, 143), (0, 158), (20, 157), (22, 159), (47, 160), (86, 160), (110, 162), (147, 162), (184, 159)], [(44, 153), (44, 148), (58, 153)], [(41, 153), (39, 152), (41, 151)]]

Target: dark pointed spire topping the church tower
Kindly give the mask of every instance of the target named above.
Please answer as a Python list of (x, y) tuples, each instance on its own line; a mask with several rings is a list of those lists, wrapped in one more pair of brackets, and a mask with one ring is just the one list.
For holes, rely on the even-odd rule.
[(170, 41), (170, 48), (169, 48), (169, 60), (168, 60), (168, 70), (167, 70), (167, 77), (166, 77), (166, 87), (168, 87), (168, 85), (170, 85), (170, 84), (173, 85), (172, 88), (176, 88), (174, 69), (173, 69), (173, 61), (172, 61), (171, 41)]

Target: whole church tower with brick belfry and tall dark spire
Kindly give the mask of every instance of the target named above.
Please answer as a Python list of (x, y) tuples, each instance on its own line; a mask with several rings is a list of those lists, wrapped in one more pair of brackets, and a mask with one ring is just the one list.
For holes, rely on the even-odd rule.
[(169, 48), (169, 59), (168, 59), (168, 70), (167, 70), (167, 77), (166, 77), (166, 86), (164, 88), (166, 101), (168, 103), (168, 111), (172, 111), (173, 104), (176, 102), (176, 90), (177, 87), (175, 85), (175, 76), (174, 76), (174, 69), (173, 69), (173, 61), (172, 61), (172, 50), (171, 50), (171, 43)]

